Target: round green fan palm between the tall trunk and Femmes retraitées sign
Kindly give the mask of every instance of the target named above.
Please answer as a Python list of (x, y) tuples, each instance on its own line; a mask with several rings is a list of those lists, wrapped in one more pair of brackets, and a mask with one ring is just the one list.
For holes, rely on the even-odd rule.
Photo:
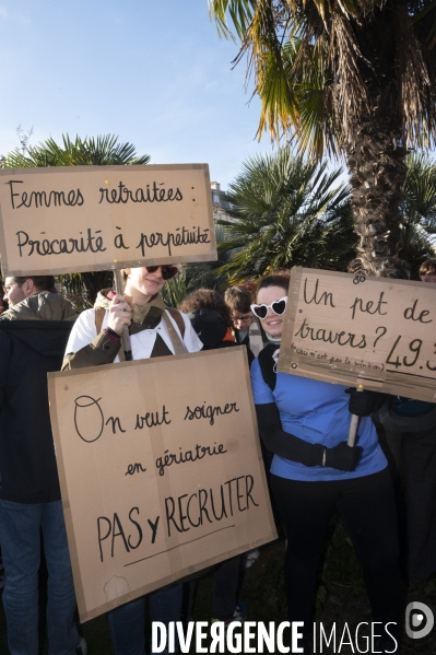
[(295, 265), (346, 270), (355, 233), (341, 173), (293, 156), (290, 147), (245, 162), (226, 194), (232, 219), (217, 221), (226, 232), (219, 253), (227, 257), (217, 272), (237, 284)]

